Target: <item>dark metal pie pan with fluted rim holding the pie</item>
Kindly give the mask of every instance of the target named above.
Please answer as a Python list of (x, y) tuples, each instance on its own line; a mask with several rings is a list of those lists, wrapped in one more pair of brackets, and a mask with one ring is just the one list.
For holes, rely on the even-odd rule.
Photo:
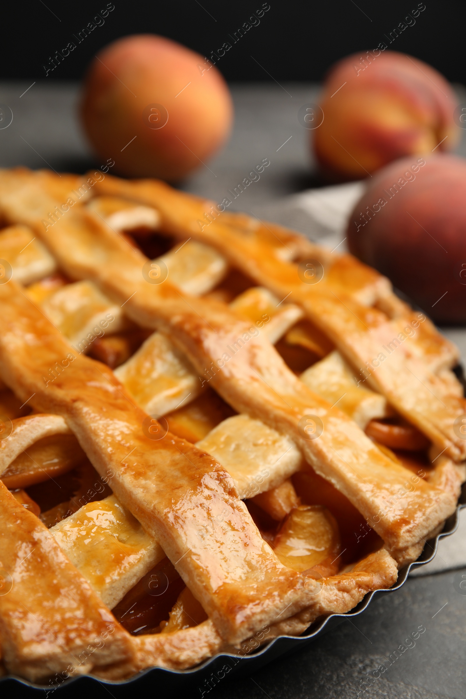
[(1, 693), (3, 696), (15, 697), (38, 696), (39, 693), (44, 697), (53, 695), (54, 698), (63, 693), (66, 693), (68, 697), (78, 695), (82, 697), (84, 691), (92, 691), (93, 689), (95, 691), (98, 689), (96, 685), (100, 684), (105, 689), (108, 687), (108, 691), (115, 698), (127, 696), (129, 689), (133, 689), (138, 693), (143, 691), (153, 692), (156, 689), (157, 693), (167, 692), (168, 696), (182, 690), (189, 690), (191, 692), (194, 691), (196, 695), (199, 692), (198, 696), (206, 696), (214, 686), (221, 683), (224, 677), (229, 679), (247, 677), (275, 658), (291, 654), (295, 649), (304, 648), (319, 636), (341, 624), (345, 617), (357, 617), (358, 614), (362, 614), (376, 596), (400, 589), (405, 584), (410, 570), (419, 565), (430, 563), (437, 552), (439, 540), (450, 536), (456, 531), (460, 519), (460, 510), (463, 507), (466, 507), (466, 488), (463, 488), (463, 495), (460, 497), (456, 512), (446, 520), (442, 533), (426, 542), (423, 552), (417, 561), (400, 570), (398, 580), (393, 587), (367, 593), (365, 598), (351, 612), (346, 614), (329, 614), (328, 617), (316, 619), (310, 629), (307, 630), (307, 633), (301, 636), (278, 636), (263, 648), (247, 656), (219, 653), (190, 670), (148, 668), (131, 677), (131, 679), (122, 682), (102, 682), (91, 675), (81, 675), (73, 679), (66, 679), (59, 685), (44, 686), (43, 684), (28, 682), (21, 677), (8, 675), (0, 679)]

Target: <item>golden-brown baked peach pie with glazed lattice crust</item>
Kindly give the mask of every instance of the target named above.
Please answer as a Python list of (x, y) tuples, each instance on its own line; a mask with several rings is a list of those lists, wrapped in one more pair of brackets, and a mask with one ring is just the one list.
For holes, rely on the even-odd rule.
[(455, 510), (457, 350), (374, 270), (102, 173), (1, 171), (0, 220), (2, 672), (248, 654)]

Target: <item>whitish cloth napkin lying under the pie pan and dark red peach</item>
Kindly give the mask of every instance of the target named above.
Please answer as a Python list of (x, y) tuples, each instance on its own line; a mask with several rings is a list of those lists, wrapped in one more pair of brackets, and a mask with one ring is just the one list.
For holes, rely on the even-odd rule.
[[(293, 194), (281, 201), (256, 207), (261, 219), (294, 229), (330, 250), (346, 252), (348, 217), (362, 196), (365, 182), (349, 182), (346, 185), (309, 189)], [(466, 329), (442, 328), (442, 333), (460, 348), (466, 366)], [(429, 575), (441, 570), (466, 566), (466, 509), (461, 512), (457, 531), (439, 541), (437, 554), (431, 563), (416, 567), (411, 575)]]

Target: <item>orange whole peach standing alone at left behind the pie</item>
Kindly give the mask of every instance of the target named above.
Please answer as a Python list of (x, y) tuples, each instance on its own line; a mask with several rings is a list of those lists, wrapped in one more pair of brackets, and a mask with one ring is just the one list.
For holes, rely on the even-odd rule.
[(96, 153), (122, 175), (177, 180), (224, 143), (231, 94), (201, 55), (152, 34), (104, 48), (85, 78), (82, 124)]

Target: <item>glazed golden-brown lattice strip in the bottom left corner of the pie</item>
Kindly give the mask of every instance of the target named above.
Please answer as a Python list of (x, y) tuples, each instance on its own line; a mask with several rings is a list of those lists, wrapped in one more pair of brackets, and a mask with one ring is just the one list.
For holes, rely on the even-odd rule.
[(82, 675), (132, 658), (129, 635), (3, 484), (0, 567), (0, 640), (9, 672), (37, 682), (67, 666)]

